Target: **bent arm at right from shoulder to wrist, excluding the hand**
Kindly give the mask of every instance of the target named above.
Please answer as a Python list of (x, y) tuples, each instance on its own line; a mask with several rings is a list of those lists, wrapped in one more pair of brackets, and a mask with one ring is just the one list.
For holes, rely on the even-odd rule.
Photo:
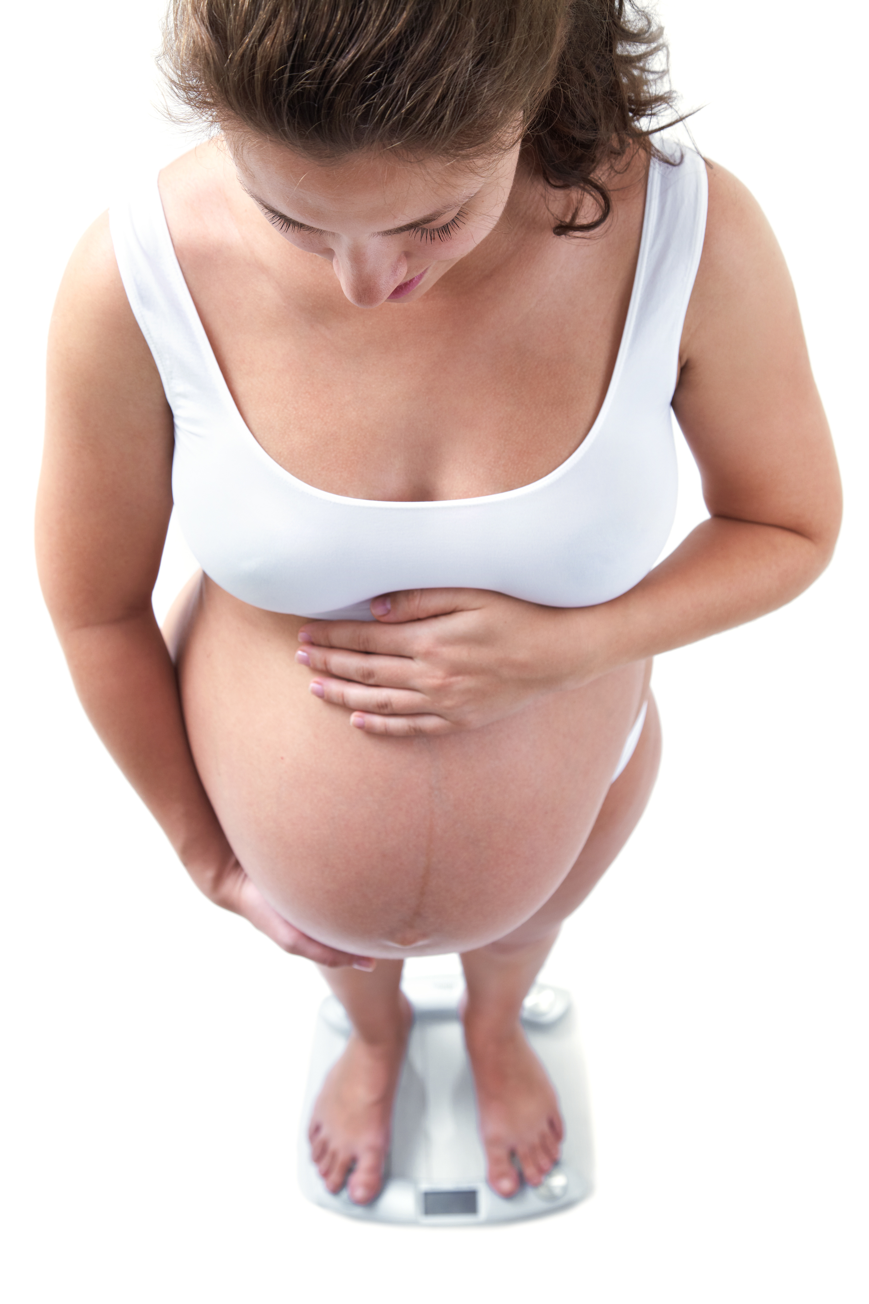
[(839, 472), (784, 258), (745, 186), (714, 166), (709, 190), (674, 409), (710, 519), (595, 609), (605, 666), (790, 602), (827, 566), (839, 533)]

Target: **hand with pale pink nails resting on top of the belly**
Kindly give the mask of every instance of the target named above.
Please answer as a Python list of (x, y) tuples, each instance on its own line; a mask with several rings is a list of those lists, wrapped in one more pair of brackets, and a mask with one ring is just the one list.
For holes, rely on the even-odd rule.
[(423, 588), (374, 599), (371, 613), (375, 622), (309, 621), (296, 653), (315, 672), (311, 692), (367, 733), (478, 729), (585, 678), (576, 673), (580, 610)]

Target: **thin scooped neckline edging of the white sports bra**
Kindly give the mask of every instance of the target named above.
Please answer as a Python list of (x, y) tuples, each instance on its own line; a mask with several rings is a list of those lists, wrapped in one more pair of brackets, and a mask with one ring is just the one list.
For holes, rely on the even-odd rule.
[(264, 464), (274, 475), (278, 475), (279, 477), (284, 479), (300, 493), (310, 494), (326, 502), (332, 502), (348, 507), (369, 507), (379, 510), (384, 509), (431, 510), (435, 507), (473, 507), (483, 503), (506, 502), (509, 501), (511, 498), (519, 498), (525, 494), (534, 493), (539, 489), (545, 489), (548, 484), (552, 484), (555, 480), (559, 480), (573, 466), (576, 466), (586, 454), (588, 449), (590, 449), (591, 445), (595, 442), (601, 432), (601, 428), (606, 421), (610, 407), (612, 406), (619, 379), (621, 377), (621, 372), (624, 370), (628, 349), (631, 347), (631, 339), (633, 336), (633, 327), (636, 323), (637, 312), (640, 308), (640, 297), (642, 295), (642, 286), (645, 282), (645, 270), (649, 257), (650, 231), (654, 220), (653, 213), (657, 209), (657, 201), (658, 201), (659, 170), (661, 164), (658, 163), (658, 160), (654, 156), (650, 158), (649, 171), (646, 175), (646, 198), (642, 214), (642, 231), (640, 233), (640, 249), (637, 253), (637, 266), (634, 267), (633, 273), (633, 284), (631, 287), (631, 300), (628, 303), (628, 313), (624, 319), (624, 326), (621, 329), (621, 339), (619, 340), (619, 351), (616, 353), (615, 364), (612, 366), (612, 373), (610, 376), (610, 383), (607, 386), (603, 402), (598, 408), (598, 413), (594, 421), (591, 422), (588, 434), (585, 436), (582, 442), (573, 450), (573, 452), (571, 452), (564, 459), (564, 462), (560, 462), (552, 471), (548, 471), (545, 476), (541, 476), (539, 480), (532, 480), (529, 484), (519, 485), (516, 489), (504, 489), (500, 493), (479, 494), (473, 498), (423, 498), (423, 499), (403, 498), (397, 501), (390, 498), (353, 498), (349, 497), (348, 494), (330, 493), (328, 489), (318, 489), (317, 485), (310, 485), (307, 484), (307, 481), (300, 480), (298, 476), (294, 476), (292, 473), (292, 471), (288, 471), (285, 467), (281, 467), (280, 462), (276, 462), (275, 458), (272, 458), (271, 454), (267, 452), (266, 449), (263, 449), (262, 443), (259, 442), (259, 439), (255, 437), (255, 434), (242, 417), (238, 409), (238, 404), (236, 403), (235, 398), (232, 396), (232, 391), (227, 385), (227, 378), (220, 369), (220, 364), (218, 363), (218, 357), (214, 352), (214, 348), (211, 347), (211, 340), (208, 339), (207, 331), (202, 325), (202, 318), (199, 317), (197, 305), (193, 301), (190, 287), (186, 283), (184, 271), (181, 270), (181, 263), (178, 262), (178, 257), (175, 252), (172, 232), (169, 231), (169, 223), (167, 222), (165, 210), (163, 207), (163, 196), (160, 194), (159, 179), (155, 180), (154, 185), (154, 189), (156, 192), (156, 209), (159, 210), (159, 214), (155, 214), (155, 216), (158, 223), (159, 237), (165, 241), (168, 267), (173, 280), (176, 282), (176, 289), (178, 297), (185, 309), (190, 326), (193, 327), (193, 333), (199, 344), (202, 356), (206, 360), (207, 366), (214, 376), (215, 385), (221, 398), (223, 406), (231, 415), (233, 424), (238, 428), (244, 439), (251, 446), (254, 455), (258, 456), (261, 462), (264, 462)]

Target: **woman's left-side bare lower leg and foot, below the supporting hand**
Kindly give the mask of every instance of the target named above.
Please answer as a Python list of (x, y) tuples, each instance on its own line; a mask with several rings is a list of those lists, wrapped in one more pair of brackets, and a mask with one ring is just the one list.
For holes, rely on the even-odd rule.
[(373, 973), (318, 965), (353, 1033), (323, 1084), (307, 1136), (328, 1191), (340, 1191), (347, 1180), (358, 1205), (374, 1200), (383, 1184), (392, 1102), (413, 1022), (410, 1003), (399, 988), (401, 965), (379, 960)]

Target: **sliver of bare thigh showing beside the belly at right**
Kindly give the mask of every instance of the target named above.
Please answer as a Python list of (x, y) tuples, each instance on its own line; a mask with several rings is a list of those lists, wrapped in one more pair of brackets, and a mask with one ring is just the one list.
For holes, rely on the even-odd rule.
[(521, 948), (551, 935), (585, 901), (594, 884), (615, 861), (640, 822), (661, 764), (661, 716), (649, 692), (649, 711), (633, 756), (603, 801), (573, 868), (539, 910), (504, 938), (490, 943), (495, 951)]

